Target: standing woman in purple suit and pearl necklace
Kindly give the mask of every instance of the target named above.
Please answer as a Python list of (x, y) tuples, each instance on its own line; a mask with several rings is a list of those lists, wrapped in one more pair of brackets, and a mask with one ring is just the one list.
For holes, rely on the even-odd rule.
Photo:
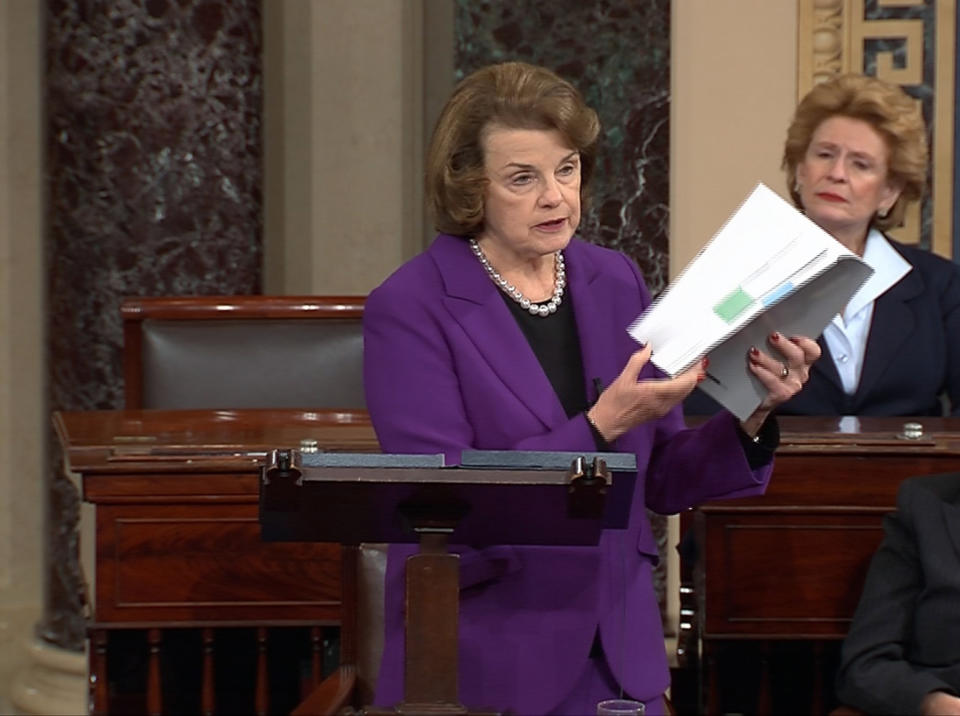
[[(739, 422), (687, 429), (678, 408), (705, 374), (669, 379), (626, 328), (650, 303), (622, 254), (574, 238), (599, 122), (569, 83), (505, 63), (464, 79), (427, 160), (436, 240), (374, 290), (364, 315), (367, 404), (386, 452), (616, 450), (637, 456), (625, 530), (596, 547), (460, 554), (460, 695), (520, 714), (594, 713), (621, 693), (663, 709), (669, 685), (646, 509), (673, 513), (763, 492), (770, 411), (819, 355), (773, 334), (744, 357), (768, 394)], [(402, 697), (403, 568), (391, 547), (376, 703)]]

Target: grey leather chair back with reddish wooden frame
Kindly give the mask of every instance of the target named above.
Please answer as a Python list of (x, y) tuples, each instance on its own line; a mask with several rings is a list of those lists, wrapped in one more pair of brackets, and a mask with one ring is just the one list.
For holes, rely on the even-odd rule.
[(362, 410), (362, 297), (127, 299), (127, 408)]

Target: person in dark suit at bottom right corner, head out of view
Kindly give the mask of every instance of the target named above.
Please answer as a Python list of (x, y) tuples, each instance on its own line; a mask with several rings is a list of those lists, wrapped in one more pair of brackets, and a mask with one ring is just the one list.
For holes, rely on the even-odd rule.
[(960, 714), (960, 473), (905, 480), (841, 651), (841, 701)]

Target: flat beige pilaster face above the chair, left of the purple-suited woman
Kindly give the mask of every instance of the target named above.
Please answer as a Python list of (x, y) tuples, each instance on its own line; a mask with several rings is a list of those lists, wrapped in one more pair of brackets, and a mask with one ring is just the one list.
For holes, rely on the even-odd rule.
[[(367, 292), (402, 259), (405, 3), (324, 0), (314, 13), (313, 287)], [(336, 71), (331, 71), (336, 68)], [(407, 209), (409, 211), (409, 209)]]

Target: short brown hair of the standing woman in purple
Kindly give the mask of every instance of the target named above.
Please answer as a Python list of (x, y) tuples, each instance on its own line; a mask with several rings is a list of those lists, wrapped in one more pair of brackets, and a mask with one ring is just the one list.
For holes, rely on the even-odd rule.
[(437, 231), (474, 236), (483, 229), (483, 130), (553, 129), (580, 153), (581, 199), (596, 162), (600, 121), (577, 89), (543, 67), (523, 62), (489, 65), (454, 88), (427, 152), (426, 201)]

